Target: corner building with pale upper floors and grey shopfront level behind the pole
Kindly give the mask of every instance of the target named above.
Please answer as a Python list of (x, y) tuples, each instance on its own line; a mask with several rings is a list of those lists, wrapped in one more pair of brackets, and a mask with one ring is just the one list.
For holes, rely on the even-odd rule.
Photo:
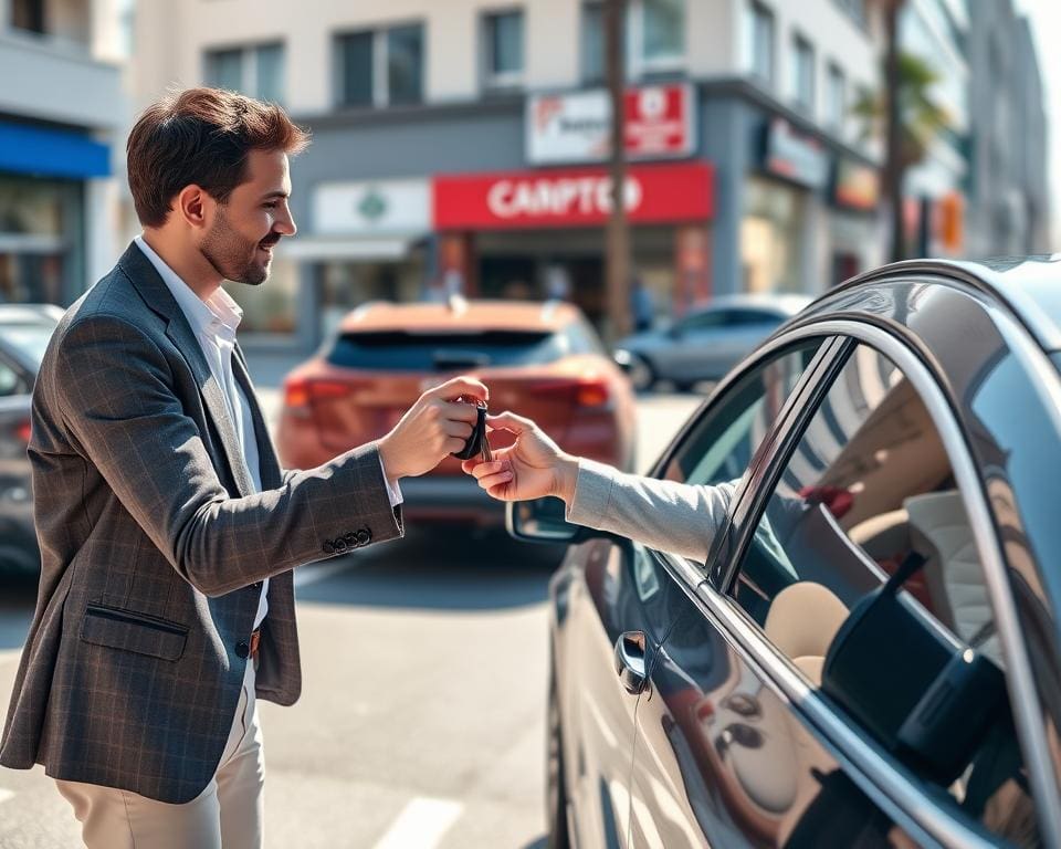
[[(861, 0), (631, 0), (624, 197), (661, 314), (713, 294), (818, 292), (881, 260), (876, 85)], [(141, 107), (208, 83), (282, 103), (297, 238), (239, 293), (264, 344), (307, 348), (374, 297), (460, 290), (605, 310), (608, 103), (597, 1), (144, 3)]]

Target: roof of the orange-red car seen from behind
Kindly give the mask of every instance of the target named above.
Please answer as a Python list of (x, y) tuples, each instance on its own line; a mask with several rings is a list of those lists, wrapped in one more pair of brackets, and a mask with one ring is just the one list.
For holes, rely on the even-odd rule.
[(466, 301), (402, 303), (374, 301), (349, 313), (340, 323), (343, 333), (386, 331), (540, 331), (560, 329), (580, 315), (563, 301)]

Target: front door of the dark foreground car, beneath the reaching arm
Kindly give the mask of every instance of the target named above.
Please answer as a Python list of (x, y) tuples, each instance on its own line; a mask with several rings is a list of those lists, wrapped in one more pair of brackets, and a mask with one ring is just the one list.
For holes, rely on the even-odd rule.
[[(690, 439), (726, 447), (713, 461), (722, 480), (745, 473), (786, 402), (798, 392), (803, 374), (823, 358), (827, 344), (813, 337), (768, 347), (707, 402)], [(691, 459), (668, 459), (661, 474), (676, 480), (701, 474), (685, 468)], [(695, 460), (703, 463), (701, 457)], [(614, 537), (574, 547), (553, 579), (551, 593), (558, 620), (554, 685), (577, 845), (626, 846), (637, 691), (623, 663), (643, 669), (677, 617), (682, 596), (662, 580), (642, 546)]]

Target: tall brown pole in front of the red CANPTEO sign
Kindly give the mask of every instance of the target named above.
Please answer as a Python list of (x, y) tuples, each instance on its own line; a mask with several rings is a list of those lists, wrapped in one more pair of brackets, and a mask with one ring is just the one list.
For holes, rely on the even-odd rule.
[(630, 332), (630, 226), (624, 202), (626, 156), (626, 18), (627, 0), (605, 0), (605, 72), (611, 102), (611, 211), (607, 234), (608, 323), (606, 336), (614, 344)]

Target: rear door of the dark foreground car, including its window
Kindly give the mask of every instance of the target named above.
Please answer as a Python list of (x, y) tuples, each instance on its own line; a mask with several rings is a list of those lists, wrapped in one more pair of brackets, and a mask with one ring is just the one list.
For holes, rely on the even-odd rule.
[(1040, 846), (964, 443), (901, 346), (833, 354), (711, 579), (651, 555), (686, 601), (638, 702), (630, 843)]

